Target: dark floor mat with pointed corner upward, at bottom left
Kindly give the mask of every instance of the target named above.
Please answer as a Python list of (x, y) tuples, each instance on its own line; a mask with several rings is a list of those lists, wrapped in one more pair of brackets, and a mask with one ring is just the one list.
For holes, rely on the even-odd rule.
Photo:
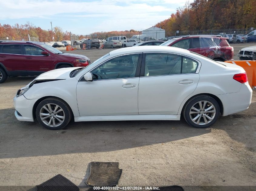
[(78, 186), (61, 174), (52, 177), (40, 185), (36, 185), (37, 191), (79, 191)]

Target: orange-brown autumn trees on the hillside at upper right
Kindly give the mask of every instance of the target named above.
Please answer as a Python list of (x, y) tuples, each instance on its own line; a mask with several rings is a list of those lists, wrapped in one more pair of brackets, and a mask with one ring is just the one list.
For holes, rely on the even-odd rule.
[(187, 1), (156, 27), (171, 31), (247, 29), (256, 26), (256, 0)]

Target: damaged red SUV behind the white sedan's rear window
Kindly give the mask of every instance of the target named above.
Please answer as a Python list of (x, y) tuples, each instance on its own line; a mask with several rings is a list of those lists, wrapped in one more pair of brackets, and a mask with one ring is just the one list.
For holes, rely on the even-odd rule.
[(188, 49), (215, 61), (234, 60), (234, 48), (228, 44), (228, 38), (221, 36), (182, 36), (162, 43), (160, 46), (172, 46)]

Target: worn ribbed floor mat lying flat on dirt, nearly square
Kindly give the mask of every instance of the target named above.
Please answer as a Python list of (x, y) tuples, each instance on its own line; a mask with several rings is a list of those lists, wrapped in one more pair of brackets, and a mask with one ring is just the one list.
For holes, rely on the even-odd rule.
[(117, 185), (122, 173), (118, 165), (118, 162), (91, 162), (91, 172), (86, 184), (91, 186)]

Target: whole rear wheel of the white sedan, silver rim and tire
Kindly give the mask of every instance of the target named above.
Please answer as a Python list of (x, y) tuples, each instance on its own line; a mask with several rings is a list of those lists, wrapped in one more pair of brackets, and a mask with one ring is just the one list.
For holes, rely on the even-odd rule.
[(196, 128), (206, 128), (216, 122), (220, 114), (218, 102), (208, 96), (191, 98), (185, 105), (183, 116), (186, 122)]

